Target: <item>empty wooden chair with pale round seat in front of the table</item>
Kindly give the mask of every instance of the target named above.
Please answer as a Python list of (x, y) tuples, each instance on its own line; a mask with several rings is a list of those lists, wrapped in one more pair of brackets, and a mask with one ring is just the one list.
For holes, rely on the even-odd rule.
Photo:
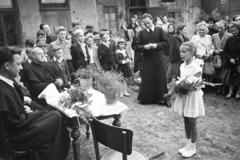
[(100, 160), (98, 142), (111, 148), (102, 160), (148, 160), (147, 156), (132, 149), (133, 132), (128, 129), (104, 124), (95, 118), (90, 120), (96, 159)]

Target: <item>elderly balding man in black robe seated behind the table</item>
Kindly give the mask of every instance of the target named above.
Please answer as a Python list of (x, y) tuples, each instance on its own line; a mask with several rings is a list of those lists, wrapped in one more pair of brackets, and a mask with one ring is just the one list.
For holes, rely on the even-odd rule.
[(60, 90), (63, 85), (60, 68), (52, 62), (44, 61), (44, 52), (41, 48), (32, 50), (33, 61), (26, 69), (27, 82), (30, 93), (37, 103), (47, 106), (45, 99), (39, 99), (38, 95), (51, 83)]

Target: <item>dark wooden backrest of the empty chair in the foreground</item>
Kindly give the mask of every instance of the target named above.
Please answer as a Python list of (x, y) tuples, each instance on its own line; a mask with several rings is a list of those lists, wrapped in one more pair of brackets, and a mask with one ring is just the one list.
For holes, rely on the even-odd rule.
[[(132, 153), (133, 132), (128, 129), (110, 126), (95, 118), (90, 120), (96, 156), (99, 155), (98, 142), (127, 155)], [(98, 153), (97, 153), (98, 152)]]

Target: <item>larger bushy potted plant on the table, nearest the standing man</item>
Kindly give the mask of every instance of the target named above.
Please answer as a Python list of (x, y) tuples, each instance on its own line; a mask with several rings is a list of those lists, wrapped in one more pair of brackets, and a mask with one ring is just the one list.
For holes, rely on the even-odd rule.
[(106, 72), (95, 77), (95, 89), (105, 95), (107, 104), (114, 104), (117, 101), (119, 91), (122, 88), (121, 74)]

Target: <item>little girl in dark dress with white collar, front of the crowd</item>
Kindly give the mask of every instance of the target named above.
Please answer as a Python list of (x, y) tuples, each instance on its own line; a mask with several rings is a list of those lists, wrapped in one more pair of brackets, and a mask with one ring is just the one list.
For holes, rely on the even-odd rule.
[[(125, 50), (126, 42), (124, 40), (119, 40), (117, 43), (117, 47), (119, 48), (116, 51), (116, 55), (115, 55), (116, 63), (118, 64), (117, 70), (123, 73), (123, 76), (125, 78), (129, 78), (132, 76), (132, 71), (129, 65), (131, 60), (130, 60), (130, 57), (128, 56), (127, 51)], [(127, 93), (126, 82), (124, 82), (123, 91), (120, 93), (120, 97), (122, 97), (123, 95), (127, 97), (130, 96)]]

